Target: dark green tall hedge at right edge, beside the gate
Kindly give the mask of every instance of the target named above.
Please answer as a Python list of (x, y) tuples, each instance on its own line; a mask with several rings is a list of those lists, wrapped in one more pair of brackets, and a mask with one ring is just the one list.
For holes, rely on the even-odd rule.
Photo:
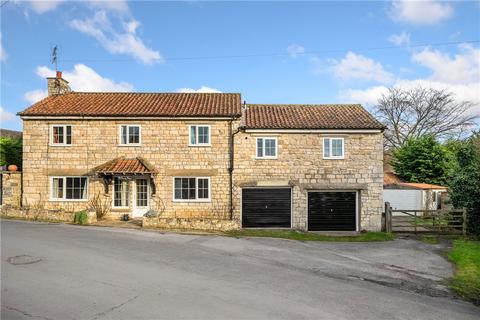
[(453, 206), (467, 209), (468, 232), (480, 235), (480, 133), (457, 151), (456, 170), (449, 186)]

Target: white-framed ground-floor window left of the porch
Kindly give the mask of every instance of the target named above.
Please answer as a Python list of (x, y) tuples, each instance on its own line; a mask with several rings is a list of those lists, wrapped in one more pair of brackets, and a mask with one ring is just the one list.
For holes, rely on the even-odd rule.
[(87, 177), (50, 177), (51, 201), (87, 201)]

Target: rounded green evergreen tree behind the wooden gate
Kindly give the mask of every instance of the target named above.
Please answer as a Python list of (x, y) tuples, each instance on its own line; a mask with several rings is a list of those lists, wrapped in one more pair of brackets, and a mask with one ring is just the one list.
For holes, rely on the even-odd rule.
[(393, 151), (395, 173), (408, 182), (445, 185), (450, 168), (449, 156), (433, 136), (409, 138)]

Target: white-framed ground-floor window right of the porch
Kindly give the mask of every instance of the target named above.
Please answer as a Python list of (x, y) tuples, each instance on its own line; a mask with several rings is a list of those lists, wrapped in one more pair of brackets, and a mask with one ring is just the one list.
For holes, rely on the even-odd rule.
[(210, 201), (209, 177), (174, 177), (173, 201)]

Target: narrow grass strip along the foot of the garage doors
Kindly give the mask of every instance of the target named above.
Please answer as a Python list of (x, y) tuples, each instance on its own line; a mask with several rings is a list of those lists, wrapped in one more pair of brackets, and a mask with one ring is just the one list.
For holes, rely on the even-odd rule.
[(300, 241), (338, 241), (338, 242), (368, 242), (368, 241), (389, 241), (395, 236), (384, 232), (366, 232), (356, 235), (324, 235), (313, 232), (303, 232), (295, 230), (264, 230), (264, 229), (244, 229), (225, 232), (230, 237), (266, 237), (281, 238)]

